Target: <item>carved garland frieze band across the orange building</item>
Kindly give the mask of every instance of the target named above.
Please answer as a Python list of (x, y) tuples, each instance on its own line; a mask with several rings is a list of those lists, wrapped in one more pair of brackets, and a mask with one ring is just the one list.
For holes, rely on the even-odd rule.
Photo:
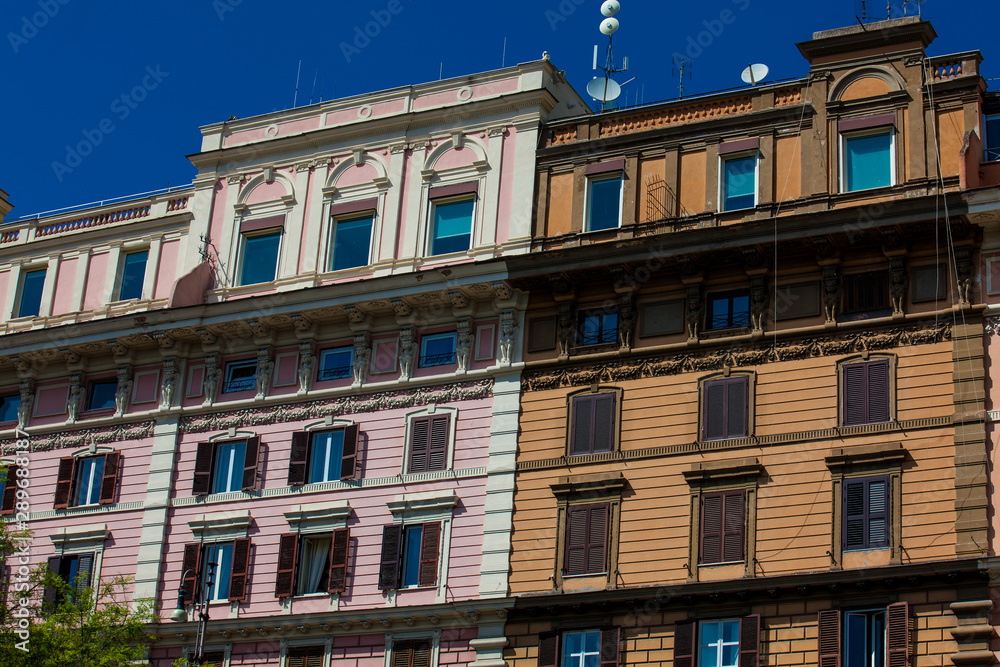
[(888, 350), (904, 345), (926, 345), (951, 339), (951, 324), (937, 327), (899, 327), (881, 332), (862, 331), (845, 336), (824, 336), (777, 345), (745, 345), (705, 352), (680, 352), (603, 364), (581, 363), (566, 369), (525, 373), (525, 391), (559, 387), (586, 387), (602, 382), (622, 382), (680, 373), (722, 370), (766, 363), (828, 357), (852, 352)]

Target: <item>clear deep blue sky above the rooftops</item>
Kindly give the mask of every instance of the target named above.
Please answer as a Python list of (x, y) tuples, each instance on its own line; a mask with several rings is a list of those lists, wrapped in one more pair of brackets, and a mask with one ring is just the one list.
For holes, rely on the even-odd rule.
[[(893, 0), (901, 4), (901, 0)], [(855, 23), (860, 0), (621, 0), (616, 56), (635, 76), (629, 103), (677, 96), (672, 55), (694, 56), (685, 97), (742, 85), (749, 61), (770, 79), (802, 76), (795, 42)], [(884, 2), (869, 2), (868, 6)], [(910, 12), (915, 1), (908, 3)], [(548, 51), (583, 93), (601, 0), (530, 3), (360, 0), (5, 0), (0, 7), (0, 189), (9, 219), (189, 183), (198, 127), (292, 106), (481, 72)], [(961, 10), (957, 10), (961, 7)], [(922, 3), (931, 55), (979, 49), (1000, 77), (997, 0)], [(362, 34), (365, 29), (374, 37)], [(504, 40), (506, 38), (506, 53)], [(696, 45), (696, 46), (695, 46)], [(325, 80), (324, 80), (325, 79)], [(313, 82), (315, 80), (315, 88)], [(1000, 88), (1000, 80), (989, 82)], [(68, 150), (83, 144), (87, 155)], [(81, 151), (82, 152), (82, 151)]]

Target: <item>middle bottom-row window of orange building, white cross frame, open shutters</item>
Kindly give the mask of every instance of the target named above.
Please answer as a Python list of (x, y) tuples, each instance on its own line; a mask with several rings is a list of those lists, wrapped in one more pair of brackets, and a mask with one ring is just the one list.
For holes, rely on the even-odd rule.
[(674, 665), (738, 667), (756, 665), (760, 655), (760, 616), (684, 621), (674, 625)]

